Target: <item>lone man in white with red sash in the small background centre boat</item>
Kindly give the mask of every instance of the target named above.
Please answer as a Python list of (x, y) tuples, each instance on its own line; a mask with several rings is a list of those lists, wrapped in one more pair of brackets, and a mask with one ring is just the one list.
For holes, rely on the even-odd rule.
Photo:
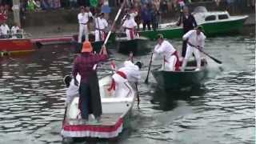
[(126, 37), (128, 40), (134, 39), (136, 36), (137, 23), (134, 19), (130, 18), (130, 14), (127, 15), (125, 22), (123, 22), (122, 27), (126, 30)]

